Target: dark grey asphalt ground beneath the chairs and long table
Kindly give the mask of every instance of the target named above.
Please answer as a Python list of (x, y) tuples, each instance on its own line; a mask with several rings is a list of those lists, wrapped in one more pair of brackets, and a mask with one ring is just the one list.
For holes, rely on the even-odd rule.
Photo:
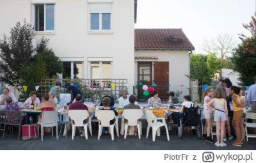
[[(152, 142), (152, 130), (150, 129), (150, 134), (146, 139), (147, 122), (143, 120), (142, 124), (141, 139), (137, 136), (127, 136), (127, 139), (124, 139), (124, 136), (117, 137), (115, 134), (114, 141), (111, 141), (110, 135), (104, 136), (103, 134), (98, 140), (97, 130), (93, 130), (93, 136), (88, 136), (88, 140), (77, 133), (73, 141), (71, 136), (67, 139), (60, 137), (56, 141), (56, 132), (54, 132), (54, 137), (51, 137), (51, 133), (47, 133), (44, 142), (41, 139), (17, 141), (18, 135), (15, 130), (13, 136), (6, 136), (4, 141), (0, 139), (0, 150), (256, 150), (256, 139), (253, 138), (244, 142), (242, 147), (232, 146), (232, 141), (227, 141), (227, 147), (218, 148), (214, 146), (214, 143), (198, 139), (192, 133), (186, 133), (182, 139), (179, 139), (176, 127), (173, 127), (174, 131), (170, 135), (170, 141), (167, 141), (164, 131), (161, 131), (161, 137), (156, 137), (156, 141)], [(0, 134), (2, 136), (3, 132), (0, 131)]]

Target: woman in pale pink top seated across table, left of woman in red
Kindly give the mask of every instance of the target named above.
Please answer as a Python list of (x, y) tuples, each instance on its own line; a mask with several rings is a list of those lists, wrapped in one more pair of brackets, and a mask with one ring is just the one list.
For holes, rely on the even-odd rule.
[[(30, 95), (30, 97), (23, 104), (23, 109), (31, 109), (31, 104), (32, 103), (34, 105), (34, 109), (35, 109), (35, 107), (40, 105), (40, 100), (39, 100), (39, 98), (36, 97), (36, 92), (35, 91), (31, 91), (29, 93), (29, 95)], [(28, 115), (27, 123), (29, 124), (30, 117), (31, 117), (32, 120), (33, 120), (33, 124), (35, 124), (37, 116), (35, 114), (28, 114), (28, 113), (27, 113), (27, 115)]]

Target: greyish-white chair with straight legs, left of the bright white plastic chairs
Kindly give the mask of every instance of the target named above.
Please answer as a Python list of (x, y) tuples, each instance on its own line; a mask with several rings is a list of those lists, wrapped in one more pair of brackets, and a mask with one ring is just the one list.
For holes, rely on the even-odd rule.
[[(37, 123), (37, 127), (39, 128), (41, 125), (41, 137), (43, 141), (43, 127), (51, 127), (52, 128), (52, 137), (53, 137), (53, 127), (56, 126), (56, 139), (58, 140), (58, 111), (43, 111), (42, 121)], [(38, 130), (39, 135), (39, 130)]]

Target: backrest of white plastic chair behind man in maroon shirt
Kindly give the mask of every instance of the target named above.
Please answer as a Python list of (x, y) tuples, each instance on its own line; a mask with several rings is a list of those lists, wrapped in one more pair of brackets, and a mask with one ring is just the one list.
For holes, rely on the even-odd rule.
[(89, 118), (88, 111), (86, 110), (69, 110), (68, 116), (74, 121), (75, 126), (83, 126), (84, 120)]

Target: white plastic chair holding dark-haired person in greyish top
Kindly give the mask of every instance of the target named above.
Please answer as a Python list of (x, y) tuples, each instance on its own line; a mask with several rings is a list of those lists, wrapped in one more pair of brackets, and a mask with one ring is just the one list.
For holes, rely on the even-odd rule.
[[(143, 116), (143, 113), (141, 109), (124, 109), (122, 116), (126, 120), (128, 120), (127, 123), (124, 123), (125, 126), (125, 134), (124, 134), (124, 139), (126, 139), (127, 136), (127, 129), (128, 126), (137, 126), (138, 128), (138, 136), (140, 139), (141, 136), (141, 122), (138, 123), (138, 120)], [(123, 127), (124, 128), (124, 127)]]

